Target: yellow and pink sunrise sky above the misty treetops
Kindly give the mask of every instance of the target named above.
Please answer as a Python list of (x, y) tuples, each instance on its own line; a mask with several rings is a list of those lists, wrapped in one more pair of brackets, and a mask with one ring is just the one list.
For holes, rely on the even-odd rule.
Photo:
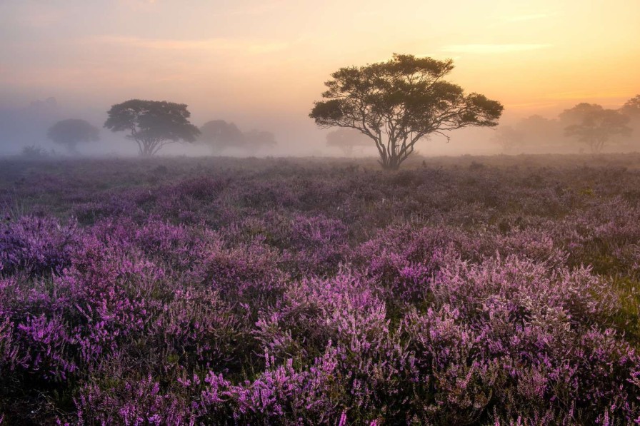
[(394, 52), (453, 59), (449, 81), (505, 121), (616, 108), (640, 93), (639, 22), (639, 0), (0, 0), (0, 110), (54, 97), (99, 124), (130, 98), (175, 101), (315, 153), (330, 73)]

